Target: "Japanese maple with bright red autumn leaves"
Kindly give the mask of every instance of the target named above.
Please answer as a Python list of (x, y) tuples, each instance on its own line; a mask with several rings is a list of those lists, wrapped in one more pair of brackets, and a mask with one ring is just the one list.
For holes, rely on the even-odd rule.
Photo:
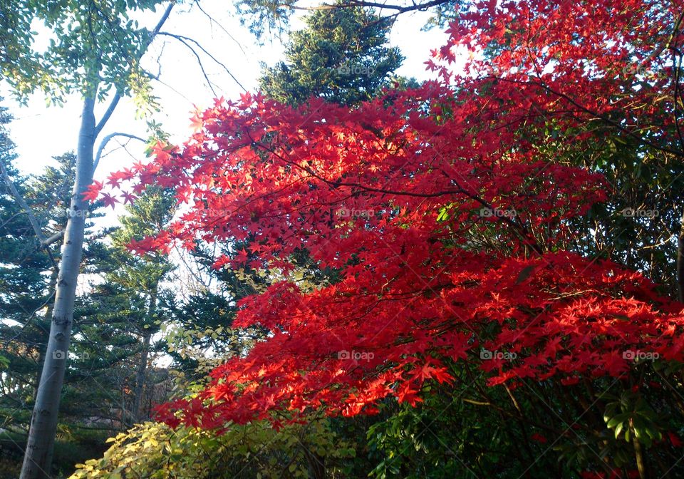
[[(158, 143), (150, 164), (115, 173), (114, 186), (172, 187), (188, 205), (132, 249), (246, 243), (214, 267), (277, 278), (239, 301), (235, 323), (268, 338), (160, 418), (220, 431), (256, 418), (278, 426), (280, 411), (376, 413), (388, 397), (417, 406), (426, 386), (456, 387), (472, 364), (509, 393), (527, 380), (576, 391), (603, 378), (638, 391), (641, 354), (677, 369), (682, 304), (641, 272), (582, 254), (571, 225), (610, 185), (596, 165), (549, 151), (559, 135), (579, 154), (613, 135), (680, 162), (682, 19), (659, 1), (472, 2), (427, 62), (438, 81), (358, 108), (218, 99), (182, 148)], [(459, 52), (470, 53), (462, 72)], [(88, 197), (115, 200), (101, 189)], [(336, 280), (304, 284), (303, 251)], [(618, 430), (631, 418), (621, 414), (607, 426), (636, 433), (644, 477), (640, 441), (673, 431), (632, 419)]]

